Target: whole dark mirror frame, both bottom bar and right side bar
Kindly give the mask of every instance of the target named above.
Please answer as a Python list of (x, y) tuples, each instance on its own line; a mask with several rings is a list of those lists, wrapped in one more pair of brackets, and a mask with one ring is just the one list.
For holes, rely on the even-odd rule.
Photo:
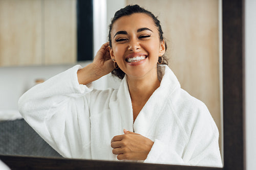
[(11, 169), (245, 169), (244, 0), (222, 1), (224, 167), (5, 156)]

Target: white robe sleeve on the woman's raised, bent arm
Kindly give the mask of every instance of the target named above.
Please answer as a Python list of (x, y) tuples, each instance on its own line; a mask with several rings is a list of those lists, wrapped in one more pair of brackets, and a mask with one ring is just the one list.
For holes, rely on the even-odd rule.
[[(76, 65), (24, 93), (19, 112), (64, 157), (81, 158), (90, 146), (91, 85), (80, 85)], [(89, 155), (90, 157), (90, 155)]]

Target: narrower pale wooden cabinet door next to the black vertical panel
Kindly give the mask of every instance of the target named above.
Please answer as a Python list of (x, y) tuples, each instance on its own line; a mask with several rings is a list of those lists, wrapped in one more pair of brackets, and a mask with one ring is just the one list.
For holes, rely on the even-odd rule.
[(76, 1), (45, 0), (45, 63), (76, 61)]

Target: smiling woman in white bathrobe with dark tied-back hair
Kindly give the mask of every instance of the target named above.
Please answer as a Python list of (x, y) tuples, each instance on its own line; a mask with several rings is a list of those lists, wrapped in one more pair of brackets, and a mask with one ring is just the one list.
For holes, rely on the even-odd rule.
[[(159, 20), (126, 6), (93, 63), (27, 91), (20, 113), (64, 157), (222, 166), (214, 120), (163, 64), (165, 50)], [(111, 71), (119, 89), (91, 87)]]

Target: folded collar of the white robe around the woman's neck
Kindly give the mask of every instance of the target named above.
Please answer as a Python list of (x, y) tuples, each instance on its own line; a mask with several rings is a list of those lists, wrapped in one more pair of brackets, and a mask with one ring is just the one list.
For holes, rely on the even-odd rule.
[(134, 123), (131, 96), (126, 75), (124, 76), (117, 92), (117, 103), (119, 104), (118, 108), (123, 129), (147, 136), (151, 127), (154, 127), (157, 118), (163, 112), (168, 96), (177, 88), (180, 88), (178, 79), (167, 65), (158, 65), (157, 69), (158, 79), (161, 81), (160, 86), (148, 99)]

